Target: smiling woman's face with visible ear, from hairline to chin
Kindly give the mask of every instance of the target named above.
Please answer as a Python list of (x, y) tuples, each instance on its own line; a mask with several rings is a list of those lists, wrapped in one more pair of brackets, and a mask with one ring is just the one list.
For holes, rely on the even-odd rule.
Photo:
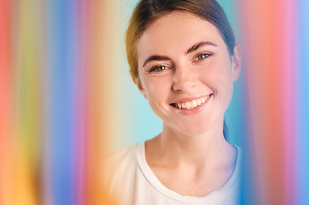
[(222, 124), (240, 72), (218, 29), (193, 14), (173, 12), (154, 22), (137, 44), (136, 84), (165, 126), (199, 135)]

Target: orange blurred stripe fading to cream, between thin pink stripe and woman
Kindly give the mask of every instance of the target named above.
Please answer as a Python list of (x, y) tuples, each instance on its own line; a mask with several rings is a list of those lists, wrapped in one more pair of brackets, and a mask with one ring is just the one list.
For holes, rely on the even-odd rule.
[[(116, 87), (117, 61), (113, 45), (116, 18), (119, 16), (115, 2), (89, 2), (90, 14), (87, 22), (89, 47), (87, 54), (87, 158), (86, 158), (86, 202), (100, 205), (104, 195), (102, 186), (102, 159), (113, 149), (116, 131)], [(117, 125), (118, 126), (118, 125)]]

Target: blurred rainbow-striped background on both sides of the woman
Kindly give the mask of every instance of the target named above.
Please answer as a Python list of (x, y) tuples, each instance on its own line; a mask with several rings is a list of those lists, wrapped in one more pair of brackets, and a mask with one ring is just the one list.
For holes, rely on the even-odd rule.
[[(309, 204), (309, 1), (220, 0), (243, 49), (227, 118), (242, 204)], [(136, 0), (0, 0), (0, 205), (101, 204), (102, 158), (161, 129), (128, 74)]]

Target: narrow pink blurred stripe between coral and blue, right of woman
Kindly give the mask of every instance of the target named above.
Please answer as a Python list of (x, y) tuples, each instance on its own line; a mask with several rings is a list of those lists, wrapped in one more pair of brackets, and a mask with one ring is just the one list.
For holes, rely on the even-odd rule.
[[(295, 11), (297, 8), (296, 1), (294, 0), (286, 0), (284, 4), (284, 10), (282, 13), (282, 42), (284, 45), (284, 48), (282, 51), (283, 54), (283, 60), (281, 61), (282, 66), (284, 66), (284, 73), (283, 77), (284, 80), (282, 81), (282, 87), (284, 92), (284, 99), (282, 103), (284, 104), (284, 108), (282, 110), (282, 113), (284, 113), (284, 133), (285, 133), (285, 147), (284, 147), (284, 153), (285, 153), (285, 180), (286, 180), (286, 186), (285, 186), (285, 193), (284, 195), (287, 196), (286, 202), (288, 204), (297, 204), (296, 203), (296, 162), (295, 159), (295, 145), (297, 137), (295, 136), (295, 126), (294, 121), (296, 119), (296, 112), (293, 112), (293, 107), (295, 107), (295, 101), (294, 98), (294, 90), (295, 88), (295, 78), (296, 78), (296, 64), (297, 64), (297, 43), (295, 42), (296, 36), (297, 36), (297, 25), (294, 23), (296, 21)], [(294, 68), (294, 69), (293, 69)], [(294, 136), (294, 137), (293, 137)]]

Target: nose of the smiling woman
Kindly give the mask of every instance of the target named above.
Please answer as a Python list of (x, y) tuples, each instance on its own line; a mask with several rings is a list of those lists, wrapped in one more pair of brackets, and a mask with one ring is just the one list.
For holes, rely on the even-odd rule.
[(190, 66), (175, 67), (173, 77), (173, 89), (175, 91), (188, 91), (196, 85), (196, 78), (194, 78), (193, 70)]

